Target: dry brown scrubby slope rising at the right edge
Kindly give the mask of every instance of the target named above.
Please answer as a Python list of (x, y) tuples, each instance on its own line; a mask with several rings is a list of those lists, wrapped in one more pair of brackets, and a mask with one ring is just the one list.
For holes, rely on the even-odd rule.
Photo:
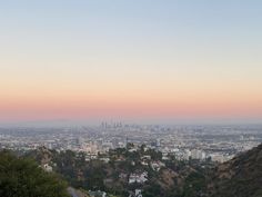
[(219, 165), (208, 179), (209, 197), (262, 197), (262, 145)]

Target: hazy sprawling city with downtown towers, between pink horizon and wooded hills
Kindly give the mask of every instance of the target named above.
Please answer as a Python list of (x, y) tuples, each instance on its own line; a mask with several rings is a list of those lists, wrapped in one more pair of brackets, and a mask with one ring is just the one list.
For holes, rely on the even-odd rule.
[(93, 127), (0, 128), (1, 149), (27, 151), (44, 146), (57, 151), (84, 152), (87, 160), (133, 144), (133, 151), (135, 147), (145, 145), (161, 151), (163, 160), (174, 156), (179, 160), (211, 159), (223, 162), (261, 142), (262, 126), (259, 125), (165, 126), (103, 121)]

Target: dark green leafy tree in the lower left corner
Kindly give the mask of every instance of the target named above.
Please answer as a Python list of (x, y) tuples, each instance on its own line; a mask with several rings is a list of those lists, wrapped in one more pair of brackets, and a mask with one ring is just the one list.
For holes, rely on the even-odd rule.
[(0, 152), (0, 196), (3, 197), (69, 197), (67, 184), (48, 174), (36, 161)]

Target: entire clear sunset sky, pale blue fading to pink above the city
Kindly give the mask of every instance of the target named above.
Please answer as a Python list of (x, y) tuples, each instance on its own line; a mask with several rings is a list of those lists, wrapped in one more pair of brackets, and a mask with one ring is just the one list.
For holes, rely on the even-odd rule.
[(0, 122), (255, 121), (260, 0), (0, 2)]

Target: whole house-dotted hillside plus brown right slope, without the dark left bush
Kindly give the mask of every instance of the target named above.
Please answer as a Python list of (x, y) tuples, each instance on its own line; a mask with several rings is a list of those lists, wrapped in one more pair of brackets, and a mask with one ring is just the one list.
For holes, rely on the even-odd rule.
[(101, 190), (125, 197), (141, 190), (143, 197), (262, 197), (262, 145), (220, 165), (162, 160), (161, 152), (143, 148), (118, 148), (92, 159), (84, 152), (40, 148), (24, 157), (60, 174), (73, 187), (71, 196)]

